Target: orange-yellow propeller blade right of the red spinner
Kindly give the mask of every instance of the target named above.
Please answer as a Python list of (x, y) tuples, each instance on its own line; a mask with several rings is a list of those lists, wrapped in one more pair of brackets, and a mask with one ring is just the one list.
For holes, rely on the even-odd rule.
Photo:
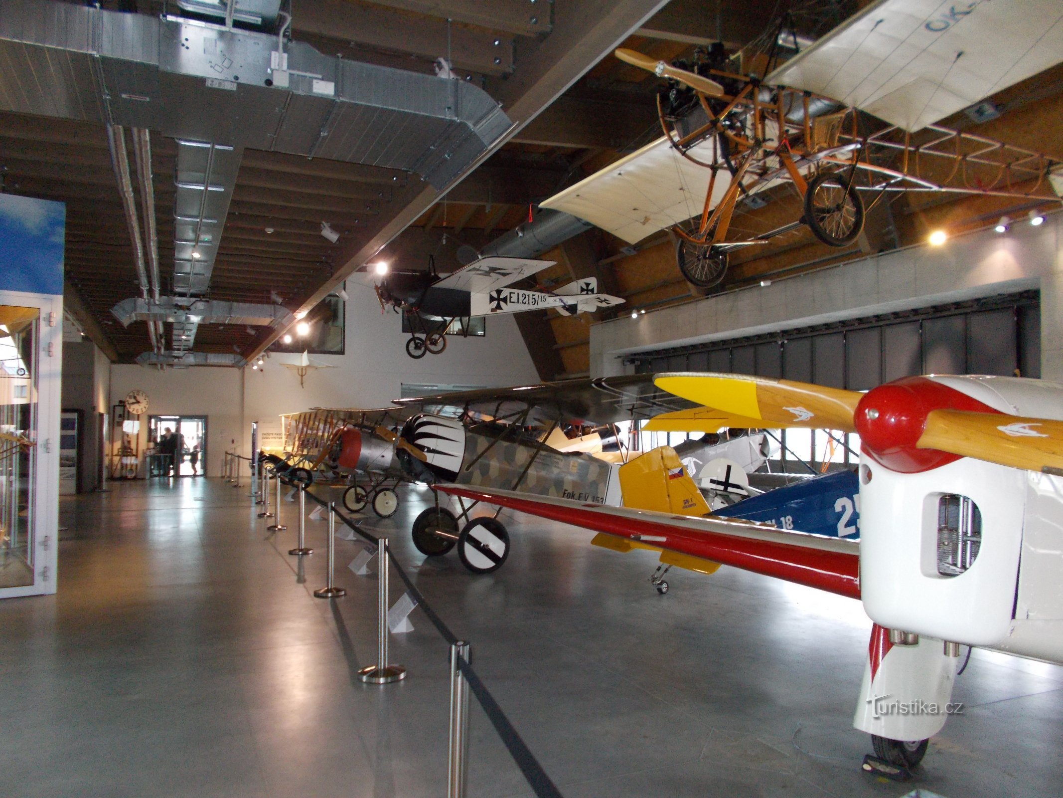
[(934, 410), (915, 446), (1063, 476), (1063, 421)]

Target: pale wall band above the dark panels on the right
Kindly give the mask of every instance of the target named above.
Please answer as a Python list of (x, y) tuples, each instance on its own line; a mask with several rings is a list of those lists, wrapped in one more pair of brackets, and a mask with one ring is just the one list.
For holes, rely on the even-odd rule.
[(1041, 289), (1041, 376), (1063, 380), (1063, 214), (1005, 234), (912, 247), (591, 328), (591, 377), (622, 373), (619, 355)]

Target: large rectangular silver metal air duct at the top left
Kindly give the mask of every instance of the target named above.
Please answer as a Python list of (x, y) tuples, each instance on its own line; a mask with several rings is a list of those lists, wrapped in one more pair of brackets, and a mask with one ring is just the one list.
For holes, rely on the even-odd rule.
[(511, 127), (466, 81), (298, 41), (282, 52), (280, 41), (178, 17), (0, 0), (0, 109), (403, 169), (436, 188)]

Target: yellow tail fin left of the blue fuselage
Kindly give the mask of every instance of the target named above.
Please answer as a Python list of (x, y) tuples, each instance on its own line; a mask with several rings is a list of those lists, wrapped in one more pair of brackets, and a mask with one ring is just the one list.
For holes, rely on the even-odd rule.
[(620, 491), (625, 508), (697, 516), (709, 512), (671, 446), (659, 446), (622, 465)]

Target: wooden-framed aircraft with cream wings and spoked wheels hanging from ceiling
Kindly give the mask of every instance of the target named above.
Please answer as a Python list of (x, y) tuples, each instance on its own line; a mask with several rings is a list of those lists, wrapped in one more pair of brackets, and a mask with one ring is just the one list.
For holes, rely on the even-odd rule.
[[(1063, 61), (1056, 0), (879, 0), (761, 77), (735, 72), (719, 48), (690, 69), (615, 55), (669, 82), (663, 136), (541, 206), (628, 244), (670, 230), (694, 285), (723, 280), (735, 250), (803, 227), (847, 247), (890, 192), (1058, 199), (1048, 156), (935, 123)], [(743, 203), (783, 185), (800, 199), (793, 221), (736, 223)]]

